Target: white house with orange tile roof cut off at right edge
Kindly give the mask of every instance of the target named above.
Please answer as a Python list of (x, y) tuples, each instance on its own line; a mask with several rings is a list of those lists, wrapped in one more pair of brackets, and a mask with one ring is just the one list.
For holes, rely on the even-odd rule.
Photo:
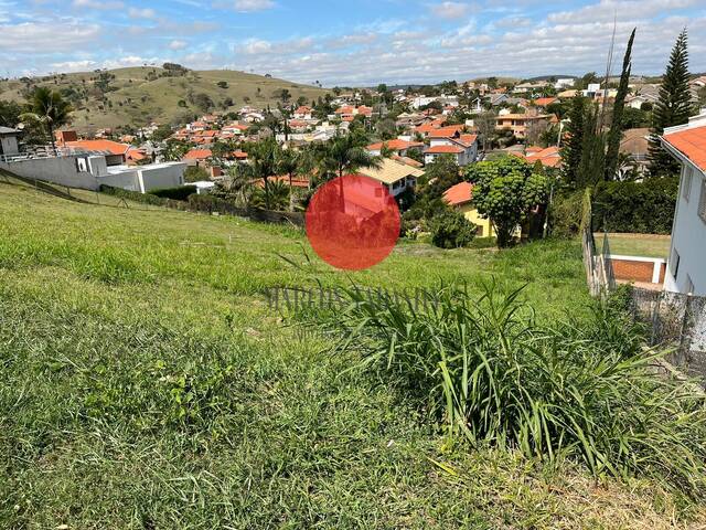
[(664, 288), (706, 296), (706, 113), (665, 129), (662, 145), (682, 162)]

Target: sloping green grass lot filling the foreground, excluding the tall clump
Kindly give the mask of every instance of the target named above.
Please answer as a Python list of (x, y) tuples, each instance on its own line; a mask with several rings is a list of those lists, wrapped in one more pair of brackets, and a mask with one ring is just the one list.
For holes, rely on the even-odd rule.
[(404, 243), (344, 274), (293, 229), (2, 182), (0, 234), (1, 528), (666, 529), (706, 517), (646, 480), (454, 445), (261, 295), (495, 277), (527, 284), (541, 318), (576, 320), (589, 300), (575, 242)]

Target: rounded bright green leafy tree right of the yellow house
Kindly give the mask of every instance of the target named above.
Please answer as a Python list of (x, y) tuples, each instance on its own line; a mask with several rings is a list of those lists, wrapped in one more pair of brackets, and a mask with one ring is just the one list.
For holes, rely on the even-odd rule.
[(473, 184), (478, 212), (495, 229), (500, 248), (510, 245), (515, 229), (533, 208), (545, 204), (549, 191), (548, 179), (518, 157), (472, 163), (466, 177)]

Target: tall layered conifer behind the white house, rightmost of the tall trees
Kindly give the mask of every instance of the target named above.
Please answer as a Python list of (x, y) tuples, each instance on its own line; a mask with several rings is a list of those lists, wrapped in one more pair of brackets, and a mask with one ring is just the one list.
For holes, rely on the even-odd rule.
[(667, 127), (688, 123), (692, 114), (688, 92), (688, 51), (686, 29), (680, 33), (672, 49), (670, 63), (662, 78), (660, 99), (653, 112), (652, 134), (650, 136), (650, 174), (653, 177), (674, 176), (680, 172), (680, 163), (664, 150), (660, 136)]

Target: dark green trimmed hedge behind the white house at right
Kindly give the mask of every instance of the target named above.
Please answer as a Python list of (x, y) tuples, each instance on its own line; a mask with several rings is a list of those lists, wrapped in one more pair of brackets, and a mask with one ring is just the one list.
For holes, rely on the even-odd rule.
[(593, 190), (593, 230), (670, 234), (678, 178), (601, 182)]

